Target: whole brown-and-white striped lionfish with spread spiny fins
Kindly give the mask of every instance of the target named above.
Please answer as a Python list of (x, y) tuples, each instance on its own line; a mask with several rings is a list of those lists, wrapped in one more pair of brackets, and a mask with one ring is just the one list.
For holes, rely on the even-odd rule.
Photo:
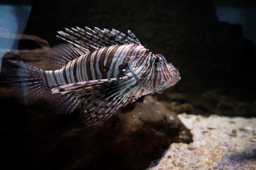
[(71, 113), (81, 103), (81, 118), (93, 125), (140, 96), (162, 93), (180, 80), (177, 68), (143, 47), (130, 30), (125, 35), (115, 29), (76, 27), (58, 34), (69, 43), (45, 54), (45, 70), (3, 59), (3, 82), (18, 91), (25, 104), (50, 90), (53, 109)]

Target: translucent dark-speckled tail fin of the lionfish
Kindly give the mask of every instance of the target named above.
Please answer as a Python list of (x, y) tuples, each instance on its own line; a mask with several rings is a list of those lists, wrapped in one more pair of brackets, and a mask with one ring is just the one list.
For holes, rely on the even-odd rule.
[(17, 59), (3, 59), (1, 84), (15, 90), (15, 96), (26, 105), (39, 99), (47, 90), (43, 70)]

